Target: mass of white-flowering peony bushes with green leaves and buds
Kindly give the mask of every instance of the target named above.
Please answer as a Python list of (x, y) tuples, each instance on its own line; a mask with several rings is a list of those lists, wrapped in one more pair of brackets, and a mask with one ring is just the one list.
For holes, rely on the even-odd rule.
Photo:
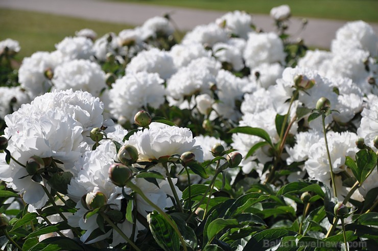
[(376, 250), (377, 35), (270, 14), (1, 41), (1, 248)]

